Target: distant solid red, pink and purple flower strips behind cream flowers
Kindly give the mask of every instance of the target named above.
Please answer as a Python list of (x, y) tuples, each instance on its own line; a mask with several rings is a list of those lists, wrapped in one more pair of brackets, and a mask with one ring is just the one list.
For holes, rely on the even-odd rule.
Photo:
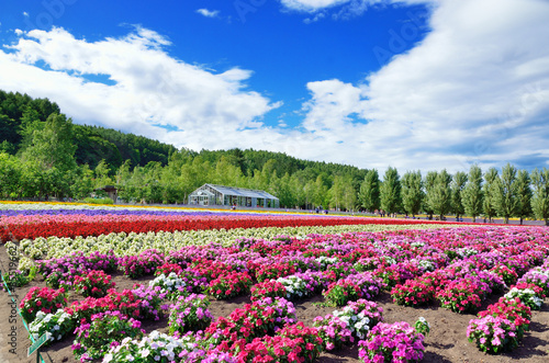
[(416, 219), (376, 219), (324, 215), (270, 215), (139, 209), (26, 208), (12, 204), (0, 209), (0, 242), (38, 237), (100, 236), (111, 232), (148, 232), (264, 227), (341, 225), (412, 225)]

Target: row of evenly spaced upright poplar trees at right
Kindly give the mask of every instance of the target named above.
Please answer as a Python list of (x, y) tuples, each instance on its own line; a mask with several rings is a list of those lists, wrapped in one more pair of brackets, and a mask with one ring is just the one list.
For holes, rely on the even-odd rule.
[(482, 173), (472, 166), (469, 173), (458, 171), (453, 175), (446, 170), (429, 171), (425, 178), (421, 171), (408, 171), (402, 175), (389, 168), (383, 181), (377, 170), (368, 171), (358, 197), (367, 211), (383, 211), (388, 214), (406, 213), (415, 216), (421, 212), (432, 219), (453, 214), (457, 218), (470, 216), (473, 222), (482, 216), (492, 222), (501, 217), (505, 224), (512, 217), (537, 217), (549, 226), (549, 170), (535, 169), (531, 173), (517, 170), (507, 163)]

